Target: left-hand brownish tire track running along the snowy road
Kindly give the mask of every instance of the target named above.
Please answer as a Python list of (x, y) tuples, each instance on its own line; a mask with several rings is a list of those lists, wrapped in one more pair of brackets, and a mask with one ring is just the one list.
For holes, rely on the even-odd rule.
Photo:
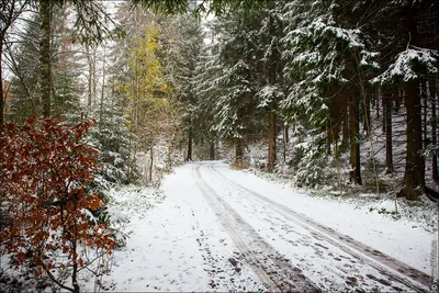
[(244, 259), (261, 279), (268, 292), (319, 292), (302, 270), (294, 268), (271, 245), (244, 221), (202, 178), (200, 167), (193, 169), (195, 183), (230, 235)]

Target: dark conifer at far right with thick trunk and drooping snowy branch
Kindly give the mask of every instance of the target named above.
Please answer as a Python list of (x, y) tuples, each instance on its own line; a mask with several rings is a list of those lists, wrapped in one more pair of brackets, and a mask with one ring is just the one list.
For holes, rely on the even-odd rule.
[(399, 26), (396, 27), (401, 27), (396, 29), (396, 32), (382, 31), (381, 35), (392, 41), (392, 58), (383, 67), (384, 71), (373, 81), (379, 82), (381, 87), (404, 88), (407, 139), (403, 193), (409, 200), (417, 200), (425, 191), (425, 159), (421, 155), (425, 129), (423, 129), (421, 94), (418, 88), (423, 79), (438, 72), (439, 55), (420, 34), (427, 25), (435, 25), (435, 18), (426, 19), (429, 20), (426, 22), (420, 20), (426, 9), (431, 8), (435, 8), (434, 1), (392, 1), (379, 11), (381, 19), (393, 24), (397, 23)]

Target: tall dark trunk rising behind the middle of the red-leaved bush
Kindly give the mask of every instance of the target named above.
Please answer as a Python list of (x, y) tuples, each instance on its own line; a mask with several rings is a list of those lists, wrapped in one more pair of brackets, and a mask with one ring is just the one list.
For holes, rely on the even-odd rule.
[(43, 103), (43, 116), (50, 115), (52, 100), (52, 60), (50, 60), (50, 16), (52, 1), (40, 1), (40, 82), (41, 82), (41, 99)]

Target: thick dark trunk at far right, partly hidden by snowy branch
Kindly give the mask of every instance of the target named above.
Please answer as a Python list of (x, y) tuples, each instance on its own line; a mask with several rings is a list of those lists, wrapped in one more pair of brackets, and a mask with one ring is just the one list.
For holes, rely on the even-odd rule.
[[(416, 10), (409, 5), (405, 9), (406, 38), (414, 46), (418, 45)], [(405, 106), (407, 109), (407, 150), (405, 166), (404, 195), (408, 200), (417, 200), (425, 190), (425, 161), (423, 149), (423, 114), (418, 81), (407, 82), (405, 86)]]

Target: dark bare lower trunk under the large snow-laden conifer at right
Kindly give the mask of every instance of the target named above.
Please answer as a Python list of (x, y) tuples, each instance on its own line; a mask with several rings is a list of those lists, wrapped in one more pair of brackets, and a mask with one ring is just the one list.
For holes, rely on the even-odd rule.
[(357, 94), (352, 95), (349, 109), (349, 131), (350, 131), (350, 161), (351, 161), (351, 182), (361, 185), (361, 160), (360, 160), (360, 109)]

